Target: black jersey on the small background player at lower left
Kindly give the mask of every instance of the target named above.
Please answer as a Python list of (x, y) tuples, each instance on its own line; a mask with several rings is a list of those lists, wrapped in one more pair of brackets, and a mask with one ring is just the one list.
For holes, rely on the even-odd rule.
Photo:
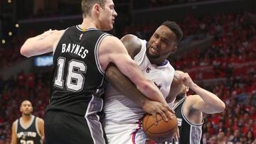
[(21, 126), (21, 118), (18, 118), (16, 135), (18, 144), (41, 144), (41, 134), (36, 123), (36, 116), (32, 116), (31, 125), (28, 128)]

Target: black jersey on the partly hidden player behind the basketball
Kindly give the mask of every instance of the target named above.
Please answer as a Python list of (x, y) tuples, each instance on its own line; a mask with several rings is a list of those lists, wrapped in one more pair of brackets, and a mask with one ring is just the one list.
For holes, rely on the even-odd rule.
[(178, 142), (172, 144), (199, 144), (201, 143), (203, 122), (199, 124), (191, 123), (183, 113), (183, 104), (186, 101), (186, 96), (178, 101), (174, 106), (175, 115), (178, 119), (178, 130), (180, 138)]

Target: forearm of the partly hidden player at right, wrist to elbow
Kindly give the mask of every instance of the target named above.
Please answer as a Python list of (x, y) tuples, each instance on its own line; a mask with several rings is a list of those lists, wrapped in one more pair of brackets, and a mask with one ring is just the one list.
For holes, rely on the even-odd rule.
[(221, 112), (225, 109), (225, 104), (215, 94), (208, 92), (206, 89), (202, 89), (195, 83), (191, 84), (190, 88), (201, 96), (203, 101), (212, 109), (212, 112)]

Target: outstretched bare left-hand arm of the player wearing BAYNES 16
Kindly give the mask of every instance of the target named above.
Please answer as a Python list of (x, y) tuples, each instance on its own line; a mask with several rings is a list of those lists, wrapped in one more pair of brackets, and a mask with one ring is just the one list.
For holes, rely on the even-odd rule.
[(21, 55), (32, 57), (35, 55), (42, 55), (52, 52), (55, 45), (57, 45), (60, 36), (64, 33), (62, 31), (46, 31), (41, 35), (33, 38), (28, 38), (21, 46)]

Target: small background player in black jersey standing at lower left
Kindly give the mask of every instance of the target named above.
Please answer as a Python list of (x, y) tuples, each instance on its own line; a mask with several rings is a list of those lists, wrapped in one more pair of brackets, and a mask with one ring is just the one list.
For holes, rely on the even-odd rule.
[(33, 106), (30, 101), (23, 101), (20, 106), (21, 118), (12, 125), (11, 144), (43, 143), (43, 119), (32, 115)]

